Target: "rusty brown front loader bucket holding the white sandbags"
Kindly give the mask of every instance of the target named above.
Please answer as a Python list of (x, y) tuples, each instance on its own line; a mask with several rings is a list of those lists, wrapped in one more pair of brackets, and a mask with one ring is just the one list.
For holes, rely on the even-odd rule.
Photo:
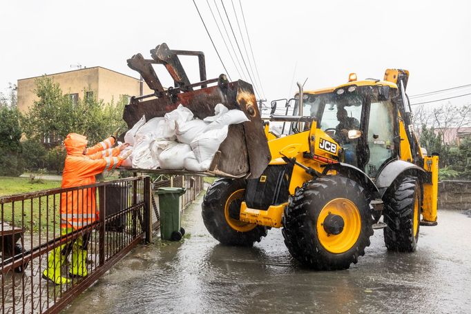
[[(128, 124), (128, 128), (132, 128), (143, 115), (146, 116), (147, 121), (153, 117), (163, 117), (166, 112), (176, 109), (179, 104), (189, 108), (193, 115), (199, 119), (213, 116), (217, 104), (223, 104), (229, 110), (242, 110), (249, 121), (229, 126), (227, 138), (220, 145), (209, 170), (204, 173), (164, 169), (128, 170), (141, 173), (209, 175), (248, 179), (260, 177), (263, 170), (267, 168), (271, 155), (260, 112), (256, 106), (253, 88), (244, 81), (229, 83), (224, 78), (222, 75), (220, 79), (206, 81), (206, 83), (218, 81), (216, 86), (198, 90), (193, 90), (194, 86), (191, 86), (187, 89), (188, 91), (175, 93), (172, 93), (171, 90), (164, 90), (159, 95), (160, 97), (146, 101), (132, 99), (131, 104), (128, 104), (124, 109), (123, 118)], [(205, 84), (200, 85), (205, 86)], [(184, 88), (180, 88), (180, 90), (184, 90)], [(157, 90), (155, 94), (157, 95)]]

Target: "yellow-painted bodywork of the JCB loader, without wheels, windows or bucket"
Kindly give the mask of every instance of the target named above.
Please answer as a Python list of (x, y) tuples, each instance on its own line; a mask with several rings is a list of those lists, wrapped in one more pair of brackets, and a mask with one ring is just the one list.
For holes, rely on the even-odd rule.
[[(398, 90), (398, 77), (400, 74), (405, 74), (405, 82), (401, 84), (407, 84), (407, 78), (409, 72), (405, 70), (387, 69), (385, 71), (384, 81), (349, 81), (347, 84), (342, 84), (334, 88), (323, 88), (320, 90), (305, 91), (307, 95), (319, 95), (325, 93), (331, 93), (339, 88), (352, 86), (388, 86), (394, 90)], [(404, 77), (403, 77), (404, 79)], [(399, 141), (399, 153), (398, 159), (412, 163), (414, 161), (414, 152), (412, 151), (411, 141), (407, 137), (407, 125), (401, 113), (398, 112), (398, 135)], [(265, 135), (267, 136), (269, 150), (271, 153), (271, 165), (282, 165), (287, 164), (287, 159), (296, 159), (298, 164), (294, 165), (292, 170), (291, 179), (289, 181), (289, 194), (294, 195), (296, 188), (299, 188), (305, 182), (312, 179), (312, 175), (307, 173), (305, 167), (316, 170), (318, 173), (323, 172), (323, 167), (327, 164), (339, 163), (343, 161), (343, 157), (340, 154), (341, 146), (332, 137), (330, 137), (323, 130), (318, 128), (316, 121), (312, 121), (311, 124), (305, 124), (302, 132), (286, 135), (283, 137), (277, 137), (275, 134), (269, 131), (269, 124), (265, 124)], [(328, 150), (320, 148), (320, 141), (326, 141), (328, 144)], [(412, 133), (412, 141), (416, 147), (419, 147), (419, 141), (416, 135)], [(332, 149), (334, 147), (335, 149)], [(423, 204), (421, 207), (421, 213), (425, 222), (436, 222), (436, 210), (437, 210), (437, 199), (438, 199), (438, 156), (425, 156), (419, 151), (416, 152), (416, 159), (423, 159), (423, 165), (421, 168), (427, 174), (424, 177), (423, 182)], [(330, 170), (326, 175), (336, 175), (335, 170)], [(264, 179), (263, 175), (260, 180)], [(250, 224), (256, 224), (260, 226), (269, 226), (273, 228), (280, 228), (282, 226), (282, 215), (283, 208), (285, 208), (287, 202), (282, 204), (273, 204), (267, 208), (267, 210), (260, 210), (258, 208), (249, 208), (246, 202), (242, 202), (240, 208), (240, 220)]]

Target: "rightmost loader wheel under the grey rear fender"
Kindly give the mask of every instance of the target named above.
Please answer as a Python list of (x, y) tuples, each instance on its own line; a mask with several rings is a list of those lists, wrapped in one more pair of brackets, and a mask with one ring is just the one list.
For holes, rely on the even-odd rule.
[(419, 241), (422, 190), (417, 177), (407, 176), (394, 182), (385, 196), (384, 240), (390, 251), (414, 252)]

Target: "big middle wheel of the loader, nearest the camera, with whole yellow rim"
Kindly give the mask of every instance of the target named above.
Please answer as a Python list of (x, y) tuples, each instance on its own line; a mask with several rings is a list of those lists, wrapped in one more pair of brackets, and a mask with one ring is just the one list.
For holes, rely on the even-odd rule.
[(299, 262), (331, 271), (349, 268), (365, 255), (372, 224), (366, 190), (336, 175), (313, 179), (296, 190), (285, 208), (282, 233)]

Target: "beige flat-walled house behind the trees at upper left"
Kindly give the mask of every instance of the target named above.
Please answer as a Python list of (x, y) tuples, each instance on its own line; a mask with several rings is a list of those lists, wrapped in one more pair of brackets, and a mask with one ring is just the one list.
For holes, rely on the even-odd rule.
[[(52, 77), (59, 83), (62, 92), (74, 101), (82, 97), (96, 97), (108, 103), (112, 99), (116, 102), (120, 97), (147, 95), (153, 92), (139, 79), (101, 66), (55, 73), (46, 77)], [(35, 95), (37, 78), (39, 77), (18, 80), (18, 108), (21, 112), (28, 111), (28, 107), (37, 100)]]

